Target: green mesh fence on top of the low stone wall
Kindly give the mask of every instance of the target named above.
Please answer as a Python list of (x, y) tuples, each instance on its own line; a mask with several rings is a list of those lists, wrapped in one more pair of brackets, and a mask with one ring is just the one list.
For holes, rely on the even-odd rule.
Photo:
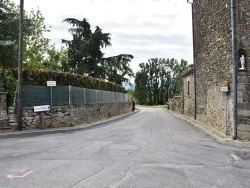
[[(23, 86), (22, 99), (24, 107), (50, 105), (51, 87)], [(93, 90), (72, 86), (52, 87), (52, 105), (84, 105), (96, 103), (130, 102), (128, 94), (110, 91)]]

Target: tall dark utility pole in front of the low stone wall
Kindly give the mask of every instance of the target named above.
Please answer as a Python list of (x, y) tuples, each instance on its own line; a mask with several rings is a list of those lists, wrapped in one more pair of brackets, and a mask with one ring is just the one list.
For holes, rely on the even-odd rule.
[(23, 7), (24, 0), (20, 0), (20, 21), (19, 21), (19, 51), (18, 51), (18, 83), (17, 83), (17, 130), (23, 129), (22, 120), (22, 69), (23, 69)]

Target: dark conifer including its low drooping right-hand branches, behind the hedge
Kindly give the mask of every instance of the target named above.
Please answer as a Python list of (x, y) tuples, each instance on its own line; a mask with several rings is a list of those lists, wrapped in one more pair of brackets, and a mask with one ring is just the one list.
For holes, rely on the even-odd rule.
[(92, 31), (86, 18), (67, 18), (63, 22), (72, 26), (69, 32), (73, 39), (62, 39), (62, 43), (68, 47), (69, 67), (73, 72), (120, 85), (129, 81), (133, 76), (129, 63), (134, 57), (130, 54), (104, 57), (102, 53), (103, 48), (111, 46), (110, 33), (102, 32), (99, 26)]

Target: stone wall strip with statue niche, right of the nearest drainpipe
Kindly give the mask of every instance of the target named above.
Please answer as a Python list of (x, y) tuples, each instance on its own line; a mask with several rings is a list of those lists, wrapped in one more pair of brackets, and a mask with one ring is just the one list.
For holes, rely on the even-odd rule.
[[(236, 3), (237, 33), (237, 93), (238, 93), (238, 136), (250, 139), (250, 0)], [(240, 56), (244, 54), (245, 70), (240, 69)]]

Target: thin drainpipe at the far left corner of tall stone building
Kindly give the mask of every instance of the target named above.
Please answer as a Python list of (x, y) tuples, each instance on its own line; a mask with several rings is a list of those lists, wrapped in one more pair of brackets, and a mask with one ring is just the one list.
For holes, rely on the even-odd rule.
[(196, 101), (196, 63), (195, 63), (195, 42), (194, 42), (194, 6), (193, 0), (187, 0), (191, 4), (192, 8), (192, 35), (193, 35), (193, 61), (194, 61), (194, 119), (196, 119), (197, 114), (197, 101)]

